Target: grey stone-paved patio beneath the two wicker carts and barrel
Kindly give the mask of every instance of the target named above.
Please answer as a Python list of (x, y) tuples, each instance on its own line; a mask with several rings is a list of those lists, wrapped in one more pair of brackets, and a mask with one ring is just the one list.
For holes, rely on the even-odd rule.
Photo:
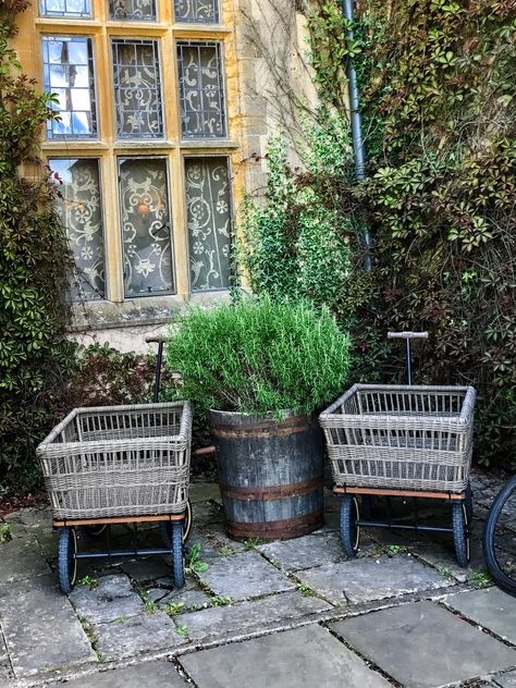
[[(217, 487), (194, 483), (189, 545), (200, 555), (183, 590), (167, 557), (82, 562), (70, 598), (57, 588), (49, 509), (11, 514), (13, 539), (0, 543), (0, 687), (516, 688), (516, 599), (491, 587), (480, 550), (497, 484), (475, 474), (474, 488), (466, 570), (446, 538), (385, 531), (364, 533), (359, 556), (346, 560), (330, 492), (320, 531), (234, 542)], [(439, 519), (442, 508), (425, 511)], [(119, 543), (132, 539), (113, 531)], [(152, 528), (140, 537), (159, 539)]]

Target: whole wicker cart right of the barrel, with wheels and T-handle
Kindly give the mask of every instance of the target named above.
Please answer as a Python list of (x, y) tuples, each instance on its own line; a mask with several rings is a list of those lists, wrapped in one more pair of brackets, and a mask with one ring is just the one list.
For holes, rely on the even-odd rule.
[[(334, 493), (342, 497), (344, 551), (358, 551), (360, 529), (391, 528), (453, 533), (462, 566), (469, 562), (472, 518), (469, 469), (476, 392), (470, 386), (411, 384), (410, 342), (428, 333), (389, 333), (403, 339), (407, 385), (355, 384), (320, 417)], [(360, 502), (358, 496), (361, 496)], [(366, 520), (360, 505), (371, 495), (447, 500), (452, 526)]]

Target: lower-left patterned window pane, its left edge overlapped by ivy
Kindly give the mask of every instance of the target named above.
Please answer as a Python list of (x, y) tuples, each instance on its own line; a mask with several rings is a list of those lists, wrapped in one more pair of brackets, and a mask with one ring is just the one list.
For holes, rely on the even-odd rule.
[(105, 297), (102, 206), (98, 161), (91, 158), (49, 161), (59, 174), (59, 216), (66, 228), (75, 257), (73, 300)]

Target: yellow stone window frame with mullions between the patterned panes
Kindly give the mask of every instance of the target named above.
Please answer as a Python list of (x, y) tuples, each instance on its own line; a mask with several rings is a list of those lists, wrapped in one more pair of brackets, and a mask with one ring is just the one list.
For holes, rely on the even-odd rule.
[[(234, 11), (228, 3), (220, 2), (220, 22), (218, 24), (176, 23), (171, 0), (157, 0), (158, 19), (149, 21), (120, 21), (110, 19), (107, 0), (91, 0), (91, 19), (75, 17), (41, 17), (38, 8), (33, 8), (33, 21), (36, 26), (38, 40), (42, 35), (78, 35), (91, 38), (96, 57), (96, 83), (98, 102), (98, 137), (95, 140), (44, 140), (42, 151), (47, 159), (51, 158), (84, 158), (95, 157), (99, 160), (101, 171), (103, 217), (105, 217), (105, 251), (106, 251), (106, 297), (105, 300), (88, 302), (88, 308), (99, 308), (106, 302), (122, 305), (130, 302), (135, 307), (142, 304), (146, 308), (147, 295), (125, 296), (123, 278), (123, 247), (121, 242), (121, 212), (118, 180), (118, 159), (123, 157), (145, 156), (164, 157), (168, 160), (169, 198), (171, 206), (171, 238), (173, 246), (174, 291), (169, 297), (158, 296), (170, 302), (184, 303), (192, 297), (191, 267), (188, 250), (188, 230), (186, 224), (186, 194), (184, 179), (184, 158), (194, 156), (219, 158), (229, 161), (230, 179), (233, 181), (232, 170), (237, 169), (242, 153), (238, 151), (241, 125), (238, 122), (239, 102), (237, 86), (236, 52), (235, 52), (235, 22)], [(30, 10), (29, 10), (30, 11)], [(167, 83), (163, 88), (163, 122), (164, 137), (162, 139), (118, 139), (115, 128), (114, 98), (110, 89), (112, 81), (112, 48), (111, 39), (134, 38), (155, 39), (159, 42), (161, 56), (161, 81)], [(181, 128), (181, 102), (177, 81), (177, 41), (220, 42), (223, 57), (222, 83), (225, 89), (226, 105), (226, 136), (218, 139), (184, 139)], [(230, 64), (230, 69), (229, 69)], [(101, 69), (99, 69), (101, 65)], [(35, 73), (42, 72), (41, 54), (36, 53)], [(231, 72), (233, 83), (229, 86), (228, 74)], [(109, 76), (108, 76), (109, 75)], [(40, 78), (40, 77), (39, 77)], [(231, 79), (230, 79), (231, 81)], [(230, 189), (232, 200), (232, 218), (236, 196)], [(228, 290), (209, 290), (210, 292)], [(199, 294), (196, 291), (195, 294)]]

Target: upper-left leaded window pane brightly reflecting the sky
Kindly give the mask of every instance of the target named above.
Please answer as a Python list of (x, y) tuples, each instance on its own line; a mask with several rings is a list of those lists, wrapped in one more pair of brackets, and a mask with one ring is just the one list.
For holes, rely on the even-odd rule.
[(48, 138), (97, 136), (97, 110), (91, 39), (44, 36), (44, 87), (56, 94), (60, 121), (47, 122)]

